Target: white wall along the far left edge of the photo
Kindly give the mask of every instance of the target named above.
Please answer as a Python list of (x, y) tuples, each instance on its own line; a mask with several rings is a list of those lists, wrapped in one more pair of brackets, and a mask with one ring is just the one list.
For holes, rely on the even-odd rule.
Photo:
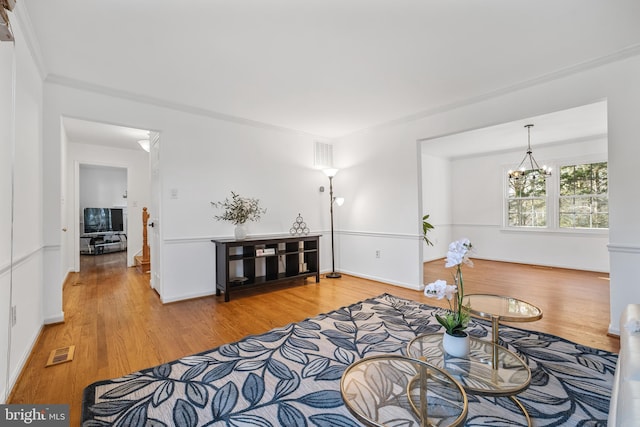
[[(0, 43), (0, 402), (6, 401), (43, 324), (46, 252), (42, 244), (42, 81), (19, 20), (12, 16), (11, 23), (15, 51), (10, 43)], [(11, 78), (14, 65), (15, 82)], [(16, 307), (13, 327), (10, 306)]]

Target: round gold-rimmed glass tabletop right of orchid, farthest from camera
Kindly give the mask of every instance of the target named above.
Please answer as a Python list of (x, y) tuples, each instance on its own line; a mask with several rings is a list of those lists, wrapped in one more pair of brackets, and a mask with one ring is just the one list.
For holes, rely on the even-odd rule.
[(517, 298), (489, 294), (465, 295), (462, 305), (469, 307), (472, 315), (491, 319), (494, 316), (504, 322), (533, 322), (542, 318), (542, 310)]

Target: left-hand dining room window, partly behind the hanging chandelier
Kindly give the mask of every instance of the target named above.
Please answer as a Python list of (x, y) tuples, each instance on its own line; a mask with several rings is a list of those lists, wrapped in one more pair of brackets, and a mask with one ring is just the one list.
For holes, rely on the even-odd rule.
[(536, 171), (509, 178), (507, 217), (509, 227), (547, 226), (547, 179)]

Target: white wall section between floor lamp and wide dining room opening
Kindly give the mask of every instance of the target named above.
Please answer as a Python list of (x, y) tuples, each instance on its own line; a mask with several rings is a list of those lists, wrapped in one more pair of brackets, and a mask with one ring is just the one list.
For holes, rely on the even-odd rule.
[[(419, 289), (422, 214), (418, 205), (415, 139), (386, 128), (337, 141), (335, 188), (345, 197), (336, 210), (344, 273)], [(380, 257), (376, 257), (376, 251)]]

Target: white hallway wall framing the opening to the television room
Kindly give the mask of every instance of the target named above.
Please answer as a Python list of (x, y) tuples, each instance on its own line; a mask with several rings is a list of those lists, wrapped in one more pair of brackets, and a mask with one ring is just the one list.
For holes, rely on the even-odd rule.
[[(83, 184), (77, 175), (81, 164), (108, 166), (109, 169), (84, 168), (86, 181)], [(150, 200), (149, 154), (141, 150), (68, 143), (66, 176), (67, 192), (72, 200), (68, 212), (73, 218), (71, 233), (77, 237), (73, 247), (78, 249), (73, 249), (66, 271), (79, 270), (77, 241), (82, 234), (80, 221), (84, 207), (126, 207), (127, 265), (134, 266), (134, 256), (142, 250), (142, 208), (148, 207)], [(122, 198), (125, 190), (126, 199)], [(76, 194), (80, 194), (79, 200), (76, 200)]]

